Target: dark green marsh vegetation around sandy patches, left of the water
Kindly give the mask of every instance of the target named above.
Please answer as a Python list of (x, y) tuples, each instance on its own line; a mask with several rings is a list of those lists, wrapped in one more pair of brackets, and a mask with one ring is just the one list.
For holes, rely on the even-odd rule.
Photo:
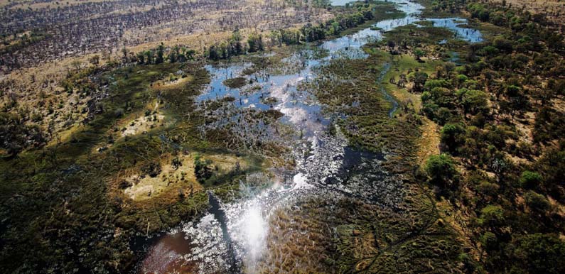
[[(195, 111), (193, 98), (208, 82), (206, 70), (195, 62), (101, 70), (71, 72), (65, 82), (71, 92), (108, 87), (108, 96), (93, 102), (92, 115), (68, 140), (26, 150), (0, 163), (4, 242), (0, 264), (10, 273), (38, 269), (122, 272), (136, 259), (129, 247), (134, 236), (175, 226), (202, 214), (208, 205), (205, 192), (190, 189), (181, 195), (176, 188), (154, 194), (145, 202), (132, 201), (122, 191), (128, 185), (119, 180), (124, 170), (160, 176), (163, 166), (154, 159), (166, 155), (223, 148), (213, 140), (203, 140), (196, 130), (204, 120)], [(191, 80), (173, 87), (158, 84), (178, 70)], [(123, 117), (142, 114), (155, 100), (163, 104), (166, 116), (176, 121), (174, 126), (116, 136), (116, 125)], [(7, 138), (17, 143), (21, 131), (9, 125), (6, 123), (3, 130), (11, 132)], [(104, 149), (96, 151), (97, 147)], [(253, 163), (258, 165), (256, 160)], [(213, 185), (223, 187), (244, 172), (247, 170), (216, 177)]]

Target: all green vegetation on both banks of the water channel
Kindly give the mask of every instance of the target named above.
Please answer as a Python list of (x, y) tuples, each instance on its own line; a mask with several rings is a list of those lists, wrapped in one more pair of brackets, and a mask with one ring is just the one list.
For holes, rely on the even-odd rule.
[[(451, 32), (418, 22), (365, 45), (366, 59), (329, 60), (315, 68), (317, 77), (299, 84), (333, 117), (330, 135), (384, 156), (371, 170), (348, 177), (386, 177), (391, 180), (387, 187), (398, 187), (387, 191), (398, 199), (379, 204), (344, 194), (337, 203), (312, 198), (275, 212), (269, 237), (280, 245), (267, 246), (268, 256), (291, 256), (276, 270), (565, 272), (562, 35), (544, 18), (506, 5), (424, 2), (429, 4), (426, 14), (466, 12), (470, 26), (488, 30), (487, 39), (440, 44)], [(252, 62), (244, 75), (296, 70), (280, 62), (295, 47), (399, 16), (392, 4), (374, 1), (330, 10), (335, 18), (316, 26), (246, 38), (234, 31), (202, 56), (212, 62), (237, 56)], [(41, 39), (36, 36), (24, 36), (2, 50)], [(247, 55), (274, 45), (285, 47), (277, 50), (286, 55)], [(7, 273), (130, 270), (137, 259), (131, 239), (201, 216), (208, 207), (206, 190), (222, 202), (237, 199), (249, 172), (266, 168), (270, 163), (264, 158), (274, 162), (286, 153), (276, 143), (280, 140), (236, 132), (245, 123), (251, 125), (245, 128), (249, 132), (257, 131), (253, 125), (260, 131), (275, 124), (281, 111), (238, 109), (235, 119), (213, 127), (228, 116), (235, 98), (197, 107), (195, 96), (209, 75), (204, 62), (194, 60), (195, 50), (161, 44), (137, 55), (123, 53), (122, 64), (99, 67), (96, 58), (94, 66), (81, 70), (77, 65), (61, 82), (64, 92), (92, 98), (87, 118), (71, 128), (68, 138), (47, 143), (52, 132), (26, 125), (30, 117), (14, 111), (16, 99), (3, 106), (0, 265)], [(240, 88), (248, 81), (235, 77), (224, 84)], [(276, 99), (262, 102), (274, 105)], [(127, 134), (139, 117), (153, 124)], [(416, 152), (426, 123), (441, 128), (435, 143), (440, 153), (420, 159)], [(231, 162), (222, 166), (226, 158)], [(188, 166), (190, 173), (184, 170)], [(171, 181), (162, 190), (144, 192), (144, 199), (127, 195), (139, 183), (127, 180), (132, 175), (164, 182), (171, 170), (187, 183)], [(308, 236), (300, 238), (303, 231)], [(289, 235), (307, 241), (293, 242)]]

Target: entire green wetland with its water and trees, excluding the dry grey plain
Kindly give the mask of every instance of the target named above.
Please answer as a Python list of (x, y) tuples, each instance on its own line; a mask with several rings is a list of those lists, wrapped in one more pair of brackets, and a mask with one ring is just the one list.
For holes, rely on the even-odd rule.
[(3, 89), (2, 268), (565, 270), (551, 24), (475, 1), (288, 5), (316, 21), (124, 46), (39, 111)]

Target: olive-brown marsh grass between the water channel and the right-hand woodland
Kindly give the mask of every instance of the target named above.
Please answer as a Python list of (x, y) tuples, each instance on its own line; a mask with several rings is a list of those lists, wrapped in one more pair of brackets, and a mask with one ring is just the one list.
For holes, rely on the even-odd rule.
[[(431, 28), (424, 28), (423, 31), (430, 30)], [(415, 45), (408, 40), (408, 36), (406, 39), (407, 48), (408, 45)], [(323, 268), (318, 265), (311, 271), (338, 269), (344, 273), (424, 273), (473, 269), (473, 259), (463, 256), (461, 247), (465, 245), (458, 242), (456, 232), (440, 219), (435, 200), (427, 194), (429, 190), (418, 183), (426, 178), (414, 176), (415, 142), (421, 134), (420, 115), (414, 109), (414, 104), (401, 101), (399, 109), (391, 118), (389, 111), (392, 109), (392, 102), (383, 93), (395, 89), (397, 85), (391, 84), (393, 77), (399, 77), (408, 70), (410, 76), (403, 74), (401, 79), (406, 82), (409, 79), (421, 81), (423, 85), (427, 75), (414, 69), (426, 67), (426, 71), (433, 71), (437, 62), (426, 60), (426, 65), (421, 65), (414, 58), (396, 58), (397, 55), (382, 50), (381, 47), (386, 45), (386, 41), (367, 45), (364, 48), (369, 54), (367, 59), (331, 60), (328, 65), (319, 68), (315, 80), (301, 87), (313, 90), (318, 100), (327, 106), (326, 111), (344, 114), (345, 118), (337, 119), (337, 126), (330, 127), (330, 132), (335, 134), (337, 127), (348, 138), (351, 146), (387, 155), (387, 160), (382, 163), (383, 168), (390, 175), (404, 176), (402, 189), (405, 192), (404, 200), (396, 205), (402, 208), (400, 212), (344, 199), (337, 209), (333, 206), (332, 212), (337, 214), (323, 213), (329, 209), (325, 209), (322, 204), (311, 205), (318, 211), (303, 217), (308, 221), (292, 218), (297, 227), (306, 222), (314, 231), (319, 227), (320, 234), (324, 233), (322, 231), (325, 224), (336, 227), (330, 243), (321, 241), (321, 245), (326, 246), (324, 257), (328, 256), (321, 262)], [(448, 168), (441, 172), (451, 172), (440, 173), (438, 170), (441, 168)], [(447, 155), (430, 163), (430, 170), (436, 172), (434, 182), (438, 185), (451, 184), (458, 177), (454, 160)], [(319, 201), (315, 204), (318, 203)], [(317, 231), (314, 236), (318, 236)], [(292, 246), (293, 243), (285, 244)], [(442, 254), (441, 258), (438, 254)], [(294, 261), (289, 259), (289, 264), (292, 263)], [(287, 267), (283, 269), (293, 269)]]

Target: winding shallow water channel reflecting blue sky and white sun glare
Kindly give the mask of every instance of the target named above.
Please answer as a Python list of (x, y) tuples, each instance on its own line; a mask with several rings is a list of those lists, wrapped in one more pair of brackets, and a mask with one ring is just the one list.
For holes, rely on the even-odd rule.
[[(333, 1), (334, 4), (346, 2)], [(296, 169), (291, 175), (279, 174), (274, 179), (261, 173), (248, 175), (246, 182), (240, 185), (244, 198), (237, 202), (224, 203), (210, 194), (209, 214), (198, 221), (187, 222), (159, 239), (138, 268), (139, 273), (166, 273), (171, 270), (181, 273), (254, 273), (267, 252), (268, 220), (276, 208), (295, 204), (302, 197), (311, 196), (332, 199), (355, 197), (391, 205), (398, 202), (398, 193), (402, 190), (398, 187), (401, 184), (396, 182), (402, 178), (387, 175), (378, 168), (387, 155), (360, 153), (348, 147), (348, 141), (339, 131), (335, 136), (325, 133), (331, 117), (322, 114), (323, 106), (312, 94), (297, 89), (300, 82), (316, 77), (317, 66), (335, 58), (366, 57), (360, 49), (362, 45), (382, 38), (384, 31), (417, 21), (432, 21), (436, 26), (449, 28), (455, 38), (470, 42), (481, 39), (480, 32), (463, 28), (466, 23), (464, 19), (420, 18), (421, 5), (409, 1), (393, 2), (398, 3), (399, 9), (406, 13), (404, 18), (376, 23), (375, 26), (381, 29), (379, 31), (366, 28), (353, 35), (325, 41), (319, 46), (328, 53), (323, 58), (312, 57), (308, 50), (298, 50), (284, 60), (289, 65), (299, 67), (298, 72), (244, 75), (244, 70), (251, 64), (207, 66), (212, 81), (198, 97), (199, 104), (233, 97), (233, 107), (236, 109), (272, 108), (281, 111), (284, 114), (281, 121), (304, 136), (291, 145)], [(382, 81), (388, 69), (389, 65), (384, 64), (381, 77), (375, 79), (376, 84)], [(226, 87), (223, 82), (233, 77), (245, 77), (248, 84), (239, 89)], [(382, 92), (391, 102), (389, 116), (392, 117), (397, 102), (384, 89)], [(276, 102), (266, 103), (265, 97), (275, 98)], [(257, 182), (270, 187), (256, 190), (251, 185), (257, 185)]]

